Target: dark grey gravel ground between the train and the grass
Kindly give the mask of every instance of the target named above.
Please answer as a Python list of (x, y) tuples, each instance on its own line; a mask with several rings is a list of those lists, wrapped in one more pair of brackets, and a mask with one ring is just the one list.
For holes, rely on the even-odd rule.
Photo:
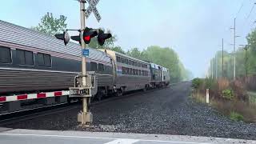
[(78, 126), (81, 108), (43, 115), (5, 127), (34, 130), (85, 130), (141, 134), (177, 134), (256, 140), (256, 125), (233, 122), (189, 97), (190, 82), (92, 106), (93, 127)]

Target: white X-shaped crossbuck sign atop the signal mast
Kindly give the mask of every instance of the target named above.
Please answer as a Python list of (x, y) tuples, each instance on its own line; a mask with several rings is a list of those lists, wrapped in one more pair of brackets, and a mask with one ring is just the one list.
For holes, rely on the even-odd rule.
[(86, 1), (89, 3), (88, 8), (85, 10), (86, 18), (89, 18), (91, 11), (93, 11), (95, 18), (99, 22), (102, 19), (101, 15), (98, 13), (98, 10), (96, 8), (96, 5), (98, 4), (99, 0), (86, 0)]

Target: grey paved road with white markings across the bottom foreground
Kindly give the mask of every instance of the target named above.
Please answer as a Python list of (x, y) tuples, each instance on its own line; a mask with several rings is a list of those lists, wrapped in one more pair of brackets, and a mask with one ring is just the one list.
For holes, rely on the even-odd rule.
[[(9, 130), (0, 133), (0, 141), (6, 139), (6, 142), (27, 142), (32, 143), (45, 142), (44, 139), (51, 143), (136, 143), (136, 144), (166, 144), (166, 143), (185, 143), (185, 144), (208, 144), (208, 143), (256, 143), (256, 141), (232, 139), (232, 138), (208, 138), (194, 137), (185, 135), (168, 135), (168, 134), (125, 134), (125, 133), (100, 133), (85, 131), (51, 131), (51, 130)], [(23, 139), (23, 140), (22, 140)], [(33, 141), (38, 140), (38, 141)], [(51, 139), (51, 140), (50, 140)], [(63, 139), (66, 141), (63, 142)], [(1, 142), (0, 142), (1, 143)], [(46, 143), (46, 142), (45, 142)], [(10, 143), (11, 144), (11, 143)]]

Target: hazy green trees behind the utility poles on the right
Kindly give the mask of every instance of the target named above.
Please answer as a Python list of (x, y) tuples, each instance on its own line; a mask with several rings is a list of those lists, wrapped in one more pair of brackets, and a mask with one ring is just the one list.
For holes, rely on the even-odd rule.
[[(236, 57), (236, 77), (245, 77), (256, 74), (256, 30), (253, 30), (246, 37), (247, 46), (240, 46), (235, 52)], [(247, 53), (245, 48), (247, 48)], [(230, 54), (224, 51), (223, 54), (223, 77), (232, 79), (234, 71), (234, 53)], [(208, 75), (216, 78), (216, 68), (218, 78), (222, 77), (222, 51), (217, 51), (214, 58), (210, 60), (211, 66), (208, 69)], [(217, 64), (217, 66), (216, 66)]]

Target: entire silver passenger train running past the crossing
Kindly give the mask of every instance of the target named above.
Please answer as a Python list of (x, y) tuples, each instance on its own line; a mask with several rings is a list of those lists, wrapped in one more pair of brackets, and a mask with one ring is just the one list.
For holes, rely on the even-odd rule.
[[(166, 86), (170, 71), (112, 50), (90, 49), (86, 69), (95, 71), (98, 98)], [(69, 90), (81, 71), (81, 47), (0, 20), (0, 96)]]

